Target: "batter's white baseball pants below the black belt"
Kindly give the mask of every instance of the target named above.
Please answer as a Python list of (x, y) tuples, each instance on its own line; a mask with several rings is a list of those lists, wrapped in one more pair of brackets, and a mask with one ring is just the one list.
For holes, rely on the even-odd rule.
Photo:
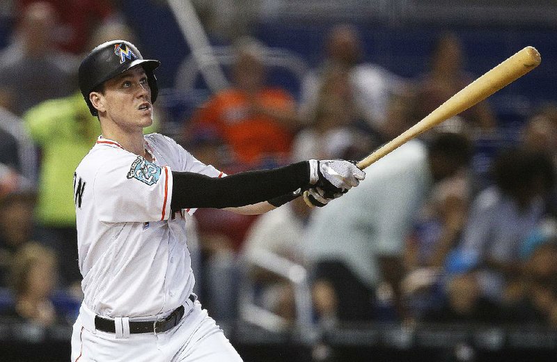
[[(214, 320), (195, 301), (182, 320), (163, 333), (95, 330), (95, 314), (84, 304), (73, 326), (72, 362), (242, 362)], [(129, 328), (128, 328), (129, 331)]]

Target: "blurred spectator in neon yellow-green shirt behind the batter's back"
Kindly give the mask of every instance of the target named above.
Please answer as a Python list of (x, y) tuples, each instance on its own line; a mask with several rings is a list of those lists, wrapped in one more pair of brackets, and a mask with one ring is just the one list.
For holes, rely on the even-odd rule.
[(42, 102), (24, 114), (33, 142), (42, 152), (36, 217), (38, 241), (60, 256), (61, 282), (81, 281), (73, 201), (73, 173), (100, 134), (81, 93)]

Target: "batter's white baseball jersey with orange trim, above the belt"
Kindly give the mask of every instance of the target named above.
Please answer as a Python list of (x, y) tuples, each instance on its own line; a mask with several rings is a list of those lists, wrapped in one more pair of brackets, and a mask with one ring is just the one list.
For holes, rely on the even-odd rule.
[(193, 210), (171, 210), (171, 170), (223, 176), (166, 136), (144, 139), (152, 162), (100, 137), (74, 174), (84, 304), (105, 317), (185, 304), (194, 275), (184, 217)]

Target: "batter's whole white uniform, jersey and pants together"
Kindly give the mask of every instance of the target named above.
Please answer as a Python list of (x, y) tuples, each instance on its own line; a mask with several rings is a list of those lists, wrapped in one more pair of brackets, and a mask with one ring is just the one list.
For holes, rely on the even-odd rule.
[[(223, 173), (166, 136), (145, 136), (145, 147), (152, 162), (99, 138), (75, 172), (84, 301), (72, 361), (241, 361), (190, 298), (194, 275), (185, 212), (194, 210), (171, 210), (171, 170)], [(130, 333), (130, 321), (155, 321), (179, 306), (185, 314), (173, 329)], [(114, 320), (116, 333), (95, 329), (95, 315)]]

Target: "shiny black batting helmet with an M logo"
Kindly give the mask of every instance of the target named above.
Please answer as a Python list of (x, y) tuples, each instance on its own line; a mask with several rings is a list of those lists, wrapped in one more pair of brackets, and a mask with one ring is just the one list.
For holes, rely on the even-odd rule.
[(155, 78), (153, 70), (160, 65), (160, 62), (143, 59), (139, 50), (131, 42), (125, 40), (103, 42), (91, 50), (91, 53), (81, 61), (79, 89), (93, 116), (97, 116), (98, 113), (89, 100), (89, 94), (105, 81), (140, 64), (147, 74), (147, 81), (151, 88), (151, 102), (154, 103), (157, 100), (159, 88), (157, 88), (157, 78)]

